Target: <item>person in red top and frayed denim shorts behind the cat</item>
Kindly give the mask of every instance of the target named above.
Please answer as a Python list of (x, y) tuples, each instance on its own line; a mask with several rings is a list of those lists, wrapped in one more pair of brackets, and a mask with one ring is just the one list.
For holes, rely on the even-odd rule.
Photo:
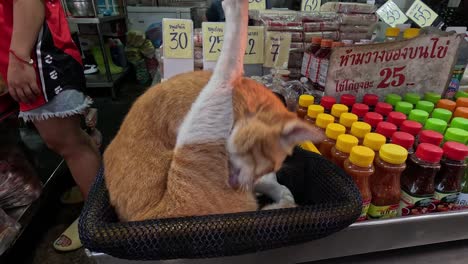
[[(0, 93), (0, 111), (19, 103), (19, 116), (65, 159), (86, 198), (101, 159), (80, 126), (92, 101), (82, 91), (81, 56), (60, 0), (0, 0), (0, 32), (0, 75), (8, 88)], [(57, 249), (81, 246), (77, 221), (65, 234)]]

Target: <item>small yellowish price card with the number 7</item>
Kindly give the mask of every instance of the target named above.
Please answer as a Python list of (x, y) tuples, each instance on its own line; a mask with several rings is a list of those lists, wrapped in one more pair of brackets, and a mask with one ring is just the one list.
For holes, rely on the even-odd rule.
[(287, 69), (290, 47), (291, 33), (267, 31), (263, 66)]

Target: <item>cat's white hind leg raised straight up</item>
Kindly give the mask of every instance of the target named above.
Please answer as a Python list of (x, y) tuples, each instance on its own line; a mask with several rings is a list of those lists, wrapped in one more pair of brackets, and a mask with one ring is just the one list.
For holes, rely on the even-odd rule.
[(226, 140), (233, 127), (233, 88), (243, 75), (247, 45), (248, 0), (224, 0), (226, 17), (223, 48), (208, 84), (182, 122), (177, 147)]

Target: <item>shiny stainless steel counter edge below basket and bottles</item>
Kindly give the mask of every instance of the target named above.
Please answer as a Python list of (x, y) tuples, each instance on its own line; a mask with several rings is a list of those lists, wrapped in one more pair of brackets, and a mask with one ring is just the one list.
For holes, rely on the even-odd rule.
[[(141, 263), (301, 263), (463, 239), (468, 239), (468, 211), (453, 211), (355, 223), (323, 239), (254, 254), (202, 260)], [(87, 253), (99, 264), (134, 263), (101, 253), (90, 251)]]

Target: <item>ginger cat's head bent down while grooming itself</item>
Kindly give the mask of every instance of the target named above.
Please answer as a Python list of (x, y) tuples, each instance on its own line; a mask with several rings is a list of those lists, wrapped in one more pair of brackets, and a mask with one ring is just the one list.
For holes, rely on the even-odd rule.
[(295, 145), (324, 138), (316, 127), (294, 114), (280, 118), (248, 117), (239, 120), (228, 140), (229, 184), (235, 189), (251, 189), (263, 175), (280, 169)]

